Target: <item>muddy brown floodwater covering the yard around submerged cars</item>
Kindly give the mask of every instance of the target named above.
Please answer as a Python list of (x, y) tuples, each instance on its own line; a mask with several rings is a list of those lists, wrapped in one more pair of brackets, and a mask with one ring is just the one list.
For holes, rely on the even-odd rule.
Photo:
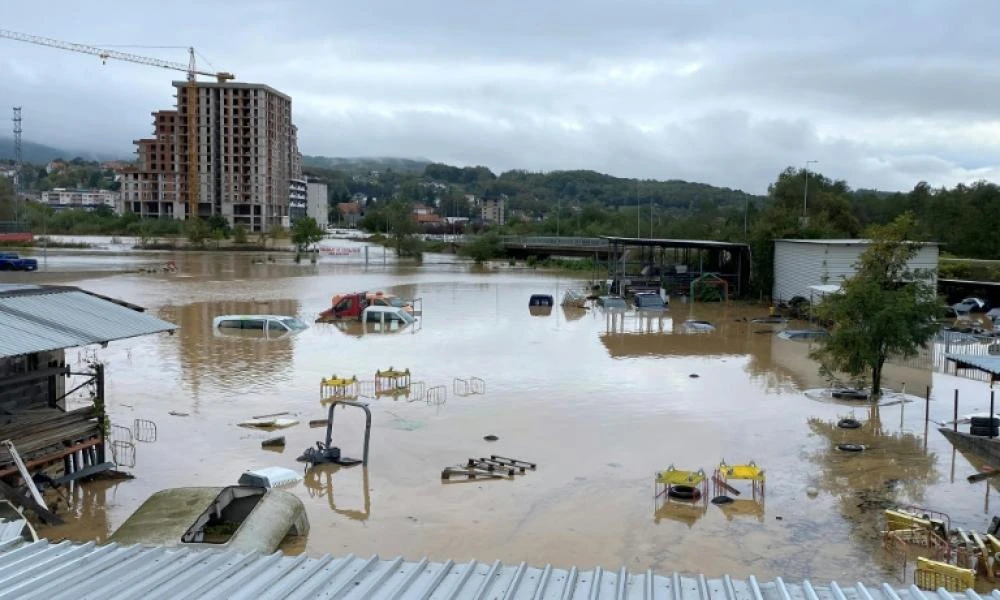
[[(177, 273), (127, 272), (165, 256)], [(931, 418), (945, 421), (956, 388), (963, 414), (986, 409), (986, 384), (892, 367), (886, 384), (905, 383), (921, 398), (869, 410), (813, 397), (805, 391), (825, 384), (808, 344), (746, 322), (762, 316), (760, 307), (675, 301), (662, 315), (556, 306), (536, 316), (531, 294), (558, 300), (583, 282), (433, 255), (423, 266), (365, 265), (358, 254), (315, 265), (228, 253), (53, 250), (47, 259), (49, 272), (37, 274), (44, 280), (146, 306), (180, 326), (174, 335), (69, 352), (106, 363), (115, 424), (148, 419), (157, 435), (136, 442), (135, 479), (71, 491), (69, 523), (42, 530), (54, 539), (103, 540), (162, 488), (232, 484), (254, 467), (302, 470), (296, 457), (325, 433), (308, 426), (326, 415), (320, 378), (371, 380), (390, 366), (446, 387), (447, 400), (371, 401), (368, 468), (321, 467), (288, 488), (306, 504), (312, 529), (285, 551), (894, 581), (901, 565), (882, 553), (882, 508), (928, 506), (980, 530), (993, 514), (997, 490), (965, 481), (975, 467), (933, 423), (925, 430), (922, 399), (933, 385)], [(381, 334), (313, 324), (335, 293), (361, 289), (419, 297), (423, 317)], [(226, 313), (297, 315), (310, 327), (279, 339), (214, 333), (212, 318)], [(684, 333), (689, 318), (717, 329)], [(456, 395), (454, 380), (470, 377), (485, 381), (485, 393)], [(285, 411), (300, 424), (279, 432), (237, 425)], [(361, 411), (337, 414), (335, 443), (360, 455)], [(837, 429), (845, 416), (865, 426)], [(484, 441), (489, 434), (499, 440)], [(261, 449), (274, 435), (287, 438), (284, 451)], [(834, 448), (844, 441), (869, 448)], [(513, 481), (442, 482), (444, 467), (490, 454), (538, 469)], [(656, 471), (710, 473), (723, 459), (763, 466), (763, 496), (755, 501), (742, 486), (726, 507), (654, 501)]]

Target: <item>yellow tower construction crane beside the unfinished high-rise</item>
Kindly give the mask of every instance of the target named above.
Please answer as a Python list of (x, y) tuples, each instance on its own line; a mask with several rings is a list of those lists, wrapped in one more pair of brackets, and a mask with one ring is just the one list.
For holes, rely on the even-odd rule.
[(9, 40), (16, 40), (19, 42), (28, 42), (31, 44), (38, 44), (40, 46), (49, 46), (51, 48), (60, 48), (62, 50), (90, 54), (100, 58), (102, 63), (107, 62), (109, 58), (113, 58), (115, 60), (138, 63), (140, 65), (147, 65), (150, 67), (160, 67), (161, 69), (171, 69), (173, 71), (183, 71), (184, 73), (187, 73), (185, 95), (187, 100), (188, 217), (191, 218), (198, 216), (198, 196), (200, 189), (198, 187), (198, 113), (196, 110), (198, 104), (198, 87), (196, 85), (195, 78), (198, 75), (215, 77), (219, 83), (222, 83), (231, 79), (236, 79), (235, 75), (226, 72), (209, 73), (206, 71), (199, 71), (194, 61), (194, 48), (188, 48), (188, 64), (185, 65), (184, 63), (160, 60), (158, 58), (149, 58), (146, 56), (139, 56), (138, 54), (130, 54), (128, 52), (106, 50), (104, 48), (96, 48), (85, 44), (63, 42), (51, 38), (28, 35), (26, 33), (18, 33), (16, 31), (8, 31), (6, 29), (0, 29), (0, 38), (7, 38)]

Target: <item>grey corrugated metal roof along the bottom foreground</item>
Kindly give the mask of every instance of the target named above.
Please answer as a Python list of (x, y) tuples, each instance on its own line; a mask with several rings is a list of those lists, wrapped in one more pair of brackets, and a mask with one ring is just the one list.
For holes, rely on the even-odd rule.
[[(991, 596), (1000, 600), (1000, 592)], [(888, 584), (813, 586), (754, 577), (654, 575), (626, 569), (533, 568), (524, 563), (407, 562), (241, 554), (226, 550), (98, 546), (93, 542), (0, 543), (0, 599), (371, 598), (570, 600), (980, 600)]]

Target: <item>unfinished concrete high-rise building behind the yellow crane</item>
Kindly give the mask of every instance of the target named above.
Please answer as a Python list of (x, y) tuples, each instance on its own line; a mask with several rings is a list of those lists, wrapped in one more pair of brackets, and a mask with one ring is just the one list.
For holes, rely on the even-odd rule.
[[(287, 223), (288, 182), (301, 175), (292, 99), (262, 84), (199, 81), (189, 107), (188, 82), (173, 85), (177, 110), (154, 113), (155, 138), (135, 142), (139, 165), (123, 176), (126, 209), (187, 218), (189, 172), (196, 168), (198, 217), (222, 215), (253, 232)], [(188, 147), (189, 110), (196, 152)]]

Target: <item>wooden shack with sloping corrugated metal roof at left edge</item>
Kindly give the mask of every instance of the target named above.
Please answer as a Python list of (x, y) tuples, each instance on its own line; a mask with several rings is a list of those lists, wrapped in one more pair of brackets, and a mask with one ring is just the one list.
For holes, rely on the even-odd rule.
[[(32, 474), (105, 462), (103, 365), (71, 367), (66, 349), (177, 328), (144, 310), (76, 287), (0, 284), (0, 480), (20, 476), (7, 441)], [(81, 390), (90, 401), (67, 407)]]

